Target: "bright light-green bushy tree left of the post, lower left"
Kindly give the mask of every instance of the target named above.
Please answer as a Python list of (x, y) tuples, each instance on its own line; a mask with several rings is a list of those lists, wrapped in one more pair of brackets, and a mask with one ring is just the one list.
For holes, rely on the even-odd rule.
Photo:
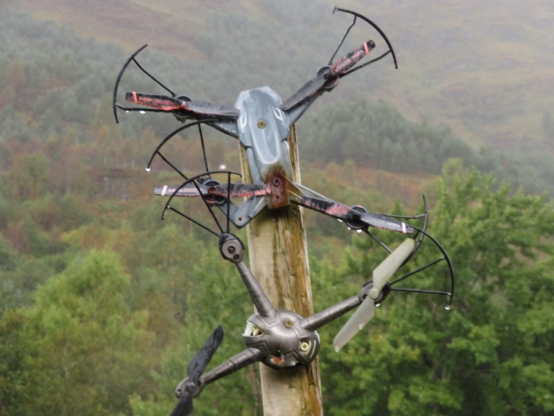
[(116, 255), (93, 251), (37, 290), (26, 327), (37, 350), (29, 408), (128, 414), (129, 395), (150, 390), (154, 337), (145, 330), (148, 313), (127, 306), (129, 287)]

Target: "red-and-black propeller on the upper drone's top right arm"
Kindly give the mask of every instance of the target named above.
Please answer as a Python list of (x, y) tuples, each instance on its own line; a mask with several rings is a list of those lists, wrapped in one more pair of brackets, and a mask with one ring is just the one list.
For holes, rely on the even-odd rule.
[(301, 89), (298, 89), (281, 108), (290, 110), (295, 105), (302, 103), (311, 96), (317, 94), (322, 88), (332, 88), (337, 85), (338, 79), (345, 75), (361, 58), (364, 58), (371, 49), (375, 48), (375, 42), (368, 40), (359, 48), (334, 61), (330, 66), (321, 68), (317, 76), (308, 81)]

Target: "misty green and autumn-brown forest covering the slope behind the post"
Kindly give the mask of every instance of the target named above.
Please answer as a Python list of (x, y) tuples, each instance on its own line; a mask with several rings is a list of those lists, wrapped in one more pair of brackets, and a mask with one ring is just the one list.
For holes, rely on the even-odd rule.
[[(214, 21), (243, 23), (237, 15)], [(163, 201), (152, 189), (169, 172), (144, 167), (179, 123), (157, 114), (121, 114), (115, 123), (111, 94), (130, 54), (123, 46), (15, 8), (3, 9), (0, 22), (0, 415), (168, 415), (208, 334), (217, 324), (226, 330), (217, 365), (242, 350), (252, 308), (213, 236), (175, 216), (160, 220)], [(247, 30), (270, 31), (261, 23)], [(210, 51), (219, 39), (205, 31), (195, 42)], [(314, 44), (307, 38), (304, 47)], [(231, 62), (246, 49), (217, 53)], [(191, 81), (184, 74), (198, 62), (147, 51), (145, 67), (195, 95), (229, 101), (249, 87), (235, 85), (231, 65), (202, 68), (204, 77)], [(254, 66), (270, 56), (262, 51)], [(302, 76), (282, 75), (283, 90)], [(229, 80), (226, 89), (213, 82), (218, 76)], [(138, 72), (123, 82), (152, 85)], [(407, 119), (384, 100), (325, 100), (332, 105), (314, 105), (297, 125), (303, 183), (397, 214), (420, 211), (425, 192), (429, 231), (457, 277), (449, 311), (441, 297), (394, 293), (339, 354), (332, 338), (344, 320), (321, 329), (325, 414), (553, 414), (548, 158), (530, 164), (474, 148), (446, 125)], [(542, 127), (551, 130), (544, 114)], [(195, 135), (172, 146), (184, 166), (202, 166)], [(207, 131), (206, 146), (213, 166), (240, 170), (233, 139)], [(384, 254), (337, 221), (309, 212), (305, 219), (319, 311), (357, 293)], [(413, 267), (434, 255), (422, 250)], [(445, 282), (429, 272), (410, 284)], [(258, 378), (253, 365), (210, 385), (195, 399), (195, 415), (262, 415)]]

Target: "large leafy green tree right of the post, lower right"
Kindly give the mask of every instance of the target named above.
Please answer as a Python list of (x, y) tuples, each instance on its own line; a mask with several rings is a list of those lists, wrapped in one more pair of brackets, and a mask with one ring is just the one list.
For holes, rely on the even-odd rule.
[[(493, 182), (459, 161), (445, 166), (430, 231), (454, 259), (454, 310), (436, 298), (393, 293), (344, 351), (324, 346), (328, 413), (552, 412), (553, 207), (506, 184), (494, 190)], [(352, 271), (367, 276), (368, 257), (348, 257), (334, 272), (337, 284)], [(436, 281), (410, 279), (418, 288)]]

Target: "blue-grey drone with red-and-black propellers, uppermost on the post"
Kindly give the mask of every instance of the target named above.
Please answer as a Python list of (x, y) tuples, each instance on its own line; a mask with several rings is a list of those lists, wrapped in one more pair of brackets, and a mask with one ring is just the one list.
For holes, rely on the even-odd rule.
[[(202, 140), (202, 151), (204, 153), (205, 172), (202, 177), (199, 178), (199, 184), (197, 184), (197, 186), (193, 186), (190, 182), (188, 184), (183, 183), (180, 186), (163, 185), (156, 187), (154, 193), (159, 196), (170, 196), (170, 199), (175, 196), (199, 197), (201, 195), (207, 195), (209, 196), (208, 201), (216, 206), (224, 205), (225, 201), (231, 198), (247, 198), (240, 206), (235, 205), (234, 202), (230, 203), (231, 210), (228, 213), (229, 220), (238, 228), (247, 225), (264, 209), (278, 209), (280, 207), (287, 207), (290, 204), (296, 204), (337, 218), (337, 220), (345, 223), (349, 229), (354, 229), (357, 232), (365, 232), (388, 252), (391, 252), (391, 249), (378, 239), (370, 229), (386, 229), (404, 234), (418, 233), (421, 238), (416, 242), (414, 248), (415, 253), (420, 246), (422, 237), (424, 235), (429, 236), (426, 233), (428, 213), (427, 201), (425, 198), (424, 213), (418, 216), (377, 214), (369, 212), (361, 205), (349, 207), (341, 202), (334, 201), (323, 196), (321, 193), (303, 186), (293, 179), (288, 143), (290, 128), (300, 116), (304, 114), (307, 108), (314, 103), (316, 98), (321, 96), (324, 92), (331, 91), (344, 76), (367, 67), (369, 64), (382, 60), (382, 58), (385, 58), (387, 55), (392, 56), (395, 68), (397, 68), (396, 55), (391, 42), (379, 26), (373, 23), (373, 21), (370, 21), (367, 17), (359, 15), (357, 12), (335, 8), (334, 12), (337, 11), (352, 15), (352, 23), (343, 34), (328, 64), (321, 67), (312, 80), (303, 85), (301, 89), (298, 89), (298, 91), (284, 103), (281, 103), (278, 94), (269, 87), (260, 87), (241, 92), (234, 108), (205, 101), (193, 101), (189, 96), (177, 95), (175, 92), (172, 92), (166, 85), (163, 85), (139, 64), (136, 60), (136, 56), (143, 51), (147, 45), (142, 46), (141, 49), (136, 51), (127, 62), (125, 62), (116, 80), (113, 96), (114, 117), (116, 122), (119, 121), (118, 110), (141, 113), (171, 113), (177, 120), (183, 123), (194, 120), (177, 128), (177, 130), (170, 133), (170, 135), (161, 141), (156, 150), (154, 150), (154, 153), (152, 153), (146, 170), (150, 171), (150, 166), (154, 157), (159, 155), (171, 166), (171, 168), (183, 177), (185, 182), (187, 182), (188, 176), (182, 173), (175, 164), (172, 164), (172, 162), (161, 153), (161, 148), (163, 148), (172, 137), (194, 126), (199, 127), (200, 139)], [(361, 60), (375, 49), (375, 42), (373, 40), (368, 40), (357, 47), (357, 49), (335, 60), (334, 58), (346, 40), (348, 33), (350, 33), (350, 29), (352, 29), (359, 20), (375, 28), (384, 39), (388, 46), (388, 50), (376, 58), (368, 60), (368, 62), (361, 63)], [(141, 107), (127, 107), (119, 104), (117, 102), (118, 87), (123, 73), (131, 62), (134, 62), (137, 67), (152, 78), (155, 83), (170, 92), (171, 96), (127, 92), (125, 94), (125, 100), (141, 105)], [(207, 174), (209, 168), (204, 148), (202, 125), (209, 125), (240, 141), (247, 157), (252, 183), (236, 183), (230, 188), (227, 188)], [(229, 191), (227, 191), (227, 189), (229, 189)], [(402, 221), (402, 219), (409, 220), (413, 218), (425, 218), (424, 226), (422, 228), (417, 228), (414, 225)], [(444, 252), (440, 244), (438, 244), (438, 241), (431, 236), (429, 236), (429, 239), (438, 246), (439, 250)]]

